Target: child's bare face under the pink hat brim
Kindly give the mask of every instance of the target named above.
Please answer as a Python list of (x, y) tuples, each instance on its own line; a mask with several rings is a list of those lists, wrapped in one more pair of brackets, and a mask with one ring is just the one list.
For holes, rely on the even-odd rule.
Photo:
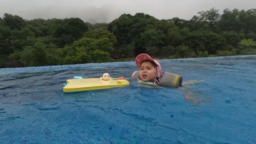
[(158, 71), (150, 62), (143, 62), (139, 70), (139, 78), (143, 81), (152, 81), (155, 79)]

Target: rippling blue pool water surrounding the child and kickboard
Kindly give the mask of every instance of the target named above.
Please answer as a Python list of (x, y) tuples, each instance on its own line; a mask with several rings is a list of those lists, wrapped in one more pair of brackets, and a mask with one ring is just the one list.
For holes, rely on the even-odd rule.
[(184, 86), (63, 93), (134, 62), (0, 69), (1, 143), (255, 143), (256, 56), (160, 60)]

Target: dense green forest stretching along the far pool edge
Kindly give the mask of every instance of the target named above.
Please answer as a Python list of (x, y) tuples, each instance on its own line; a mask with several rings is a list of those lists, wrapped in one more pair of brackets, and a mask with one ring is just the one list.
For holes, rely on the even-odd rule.
[(256, 54), (256, 9), (200, 11), (191, 20), (123, 14), (110, 23), (79, 18), (0, 17), (0, 68)]

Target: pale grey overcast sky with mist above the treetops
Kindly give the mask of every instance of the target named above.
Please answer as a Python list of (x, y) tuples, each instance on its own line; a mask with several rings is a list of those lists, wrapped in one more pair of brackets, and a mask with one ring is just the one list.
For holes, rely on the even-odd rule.
[(179, 17), (190, 20), (199, 11), (225, 8), (256, 8), (255, 0), (0, 0), (0, 17), (4, 13), (24, 19), (64, 19), (79, 17), (85, 22), (111, 22), (121, 14), (145, 13), (157, 19)]

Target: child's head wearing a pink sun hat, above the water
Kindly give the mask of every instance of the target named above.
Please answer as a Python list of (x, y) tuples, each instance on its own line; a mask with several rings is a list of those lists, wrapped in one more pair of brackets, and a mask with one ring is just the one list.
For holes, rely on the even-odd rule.
[(156, 59), (141, 53), (136, 57), (135, 63), (139, 67), (139, 80), (159, 83), (162, 78), (162, 68)]

